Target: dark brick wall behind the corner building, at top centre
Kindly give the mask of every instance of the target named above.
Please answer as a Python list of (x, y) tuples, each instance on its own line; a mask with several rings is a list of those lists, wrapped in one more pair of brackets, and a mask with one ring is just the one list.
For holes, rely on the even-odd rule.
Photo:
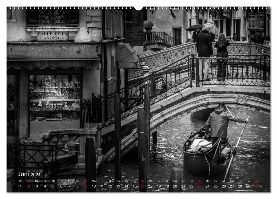
[(125, 42), (143, 46), (143, 10), (132, 9), (132, 21), (125, 21)]

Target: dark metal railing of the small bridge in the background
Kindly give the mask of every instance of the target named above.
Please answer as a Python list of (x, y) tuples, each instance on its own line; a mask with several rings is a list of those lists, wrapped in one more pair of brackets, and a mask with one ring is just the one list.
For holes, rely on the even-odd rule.
[(165, 32), (144, 32), (143, 35), (144, 42), (165, 42), (168, 43), (170, 46), (177, 46), (182, 44), (182, 42), (175, 40), (173, 37)]

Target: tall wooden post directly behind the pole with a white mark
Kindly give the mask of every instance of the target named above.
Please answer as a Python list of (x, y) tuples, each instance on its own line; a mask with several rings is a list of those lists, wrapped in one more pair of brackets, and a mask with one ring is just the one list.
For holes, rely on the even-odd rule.
[(149, 84), (145, 84), (144, 90), (144, 113), (145, 113), (145, 134), (146, 134), (146, 163), (150, 163), (150, 90)]

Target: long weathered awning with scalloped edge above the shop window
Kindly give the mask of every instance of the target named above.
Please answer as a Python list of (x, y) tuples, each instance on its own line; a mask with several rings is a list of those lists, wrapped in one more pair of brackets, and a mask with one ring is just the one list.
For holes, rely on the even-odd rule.
[(96, 45), (76, 43), (7, 43), (7, 70), (99, 67)]

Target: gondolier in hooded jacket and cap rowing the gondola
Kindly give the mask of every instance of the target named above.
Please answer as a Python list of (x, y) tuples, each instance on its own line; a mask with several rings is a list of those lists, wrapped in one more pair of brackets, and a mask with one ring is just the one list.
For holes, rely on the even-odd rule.
[(213, 145), (217, 142), (218, 138), (222, 135), (221, 142), (226, 143), (227, 136), (227, 128), (230, 121), (234, 122), (248, 122), (247, 119), (241, 119), (238, 117), (234, 117), (227, 113), (226, 106), (224, 102), (220, 102), (218, 107), (215, 109), (213, 113), (211, 113), (208, 118), (205, 126), (205, 136), (209, 137), (209, 128), (211, 127), (211, 139)]

